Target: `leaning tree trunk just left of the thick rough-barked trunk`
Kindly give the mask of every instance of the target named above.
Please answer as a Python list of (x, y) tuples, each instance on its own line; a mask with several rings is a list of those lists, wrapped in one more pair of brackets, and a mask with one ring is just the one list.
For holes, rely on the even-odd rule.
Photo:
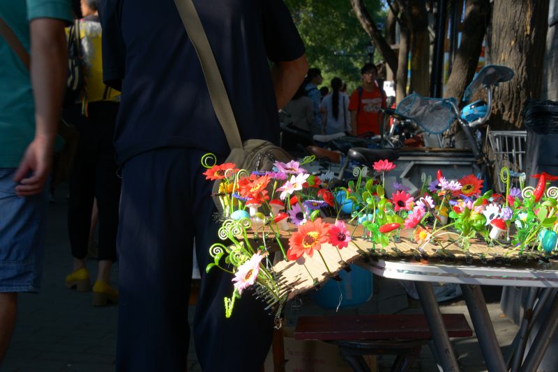
[(460, 101), (465, 88), (473, 79), (489, 20), (489, 0), (467, 1), (461, 45), (453, 59), (444, 98), (454, 97)]

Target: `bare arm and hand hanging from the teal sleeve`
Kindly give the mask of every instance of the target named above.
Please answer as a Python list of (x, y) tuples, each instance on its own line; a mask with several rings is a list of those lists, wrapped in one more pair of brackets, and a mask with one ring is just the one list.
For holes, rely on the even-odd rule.
[[(35, 101), (35, 138), (25, 151), (14, 180), (20, 196), (38, 194), (52, 168), (52, 150), (62, 106), (68, 59), (62, 20), (31, 20), (31, 86)], [(27, 175), (29, 172), (31, 176)]]

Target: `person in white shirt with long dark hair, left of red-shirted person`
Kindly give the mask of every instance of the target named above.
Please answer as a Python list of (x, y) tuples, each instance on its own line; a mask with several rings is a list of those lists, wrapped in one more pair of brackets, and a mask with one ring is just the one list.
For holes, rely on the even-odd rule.
[(322, 107), (327, 111), (325, 134), (339, 132), (351, 133), (351, 114), (349, 114), (349, 98), (341, 93), (343, 82), (338, 77), (331, 79), (333, 92), (326, 95), (322, 101)]

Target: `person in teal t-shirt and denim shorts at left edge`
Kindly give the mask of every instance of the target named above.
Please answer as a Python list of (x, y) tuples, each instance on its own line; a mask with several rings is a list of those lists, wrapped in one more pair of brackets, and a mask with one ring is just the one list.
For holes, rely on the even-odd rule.
[(71, 20), (69, 0), (0, 1), (0, 363), (17, 293), (40, 290), (47, 184), (68, 66), (64, 27)]

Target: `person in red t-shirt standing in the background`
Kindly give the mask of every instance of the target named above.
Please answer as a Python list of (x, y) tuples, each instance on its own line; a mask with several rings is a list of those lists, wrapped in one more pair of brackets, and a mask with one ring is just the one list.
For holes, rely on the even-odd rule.
[(379, 110), (386, 108), (386, 95), (376, 83), (378, 71), (372, 63), (361, 68), (362, 86), (349, 98), (351, 127), (354, 136), (366, 132), (379, 134)]

